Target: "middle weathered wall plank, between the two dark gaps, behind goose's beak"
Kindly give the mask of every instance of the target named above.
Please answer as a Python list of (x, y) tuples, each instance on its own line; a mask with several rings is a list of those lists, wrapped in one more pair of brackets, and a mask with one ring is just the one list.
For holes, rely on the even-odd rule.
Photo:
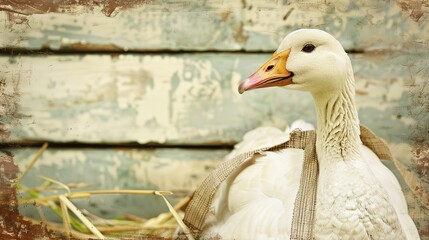
[[(351, 55), (361, 123), (388, 142), (410, 143), (407, 66), (429, 55)], [(239, 81), (268, 54), (1, 57), (18, 77), (20, 124), (9, 141), (230, 144), (258, 126), (314, 122), (307, 93)], [(412, 62), (410, 62), (411, 59)]]

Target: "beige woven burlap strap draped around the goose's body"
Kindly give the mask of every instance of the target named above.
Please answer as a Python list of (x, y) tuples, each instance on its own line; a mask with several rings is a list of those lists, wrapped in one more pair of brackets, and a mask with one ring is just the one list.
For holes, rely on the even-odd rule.
[[(393, 159), (386, 143), (364, 126), (361, 126), (361, 140), (379, 158)], [(289, 141), (285, 143), (240, 154), (235, 158), (223, 161), (209, 174), (194, 192), (185, 210), (184, 222), (191, 229), (195, 237), (199, 236), (203, 228), (217, 188), (234, 170), (250, 160), (255, 154), (264, 151), (278, 151), (285, 148), (304, 149), (305, 156), (303, 166), (305, 171), (301, 174), (300, 188), (295, 200), (291, 239), (312, 239), (314, 235), (314, 212), (318, 177), (316, 134), (315, 131), (299, 130), (292, 132)]]

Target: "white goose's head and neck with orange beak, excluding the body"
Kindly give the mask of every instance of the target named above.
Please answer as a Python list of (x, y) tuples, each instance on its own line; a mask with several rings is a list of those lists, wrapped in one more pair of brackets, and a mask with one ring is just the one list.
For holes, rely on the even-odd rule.
[(358, 157), (360, 130), (353, 70), (347, 53), (333, 36), (317, 29), (291, 32), (238, 91), (273, 86), (307, 91), (313, 96), (320, 164), (324, 159)]

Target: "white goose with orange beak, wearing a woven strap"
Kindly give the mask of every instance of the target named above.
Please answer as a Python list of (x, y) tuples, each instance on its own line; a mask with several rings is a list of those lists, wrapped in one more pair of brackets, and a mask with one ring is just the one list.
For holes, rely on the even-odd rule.
[[(271, 86), (310, 92), (315, 102), (315, 238), (419, 239), (397, 179), (360, 141), (353, 70), (341, 44), (321, 30), (290, 33), (239, 92)], [(259, 129), (235, 153), (250, 150), (258, 131), (272, 134), (258, 145), (287, 139), (279, 130)], [(202, 238), (289, 239), (303, 159), (300, 149), (253, 157), (216, 192)]]

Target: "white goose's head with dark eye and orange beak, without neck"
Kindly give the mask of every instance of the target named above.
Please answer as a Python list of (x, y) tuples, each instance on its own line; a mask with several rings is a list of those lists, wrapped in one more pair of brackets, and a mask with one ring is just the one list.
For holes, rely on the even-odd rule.
[(329, 93), (341, 89), (351, 72), (350, 59), (333, 36), (318, 29), (300, 29), (289, 33), (238, 91), (277, 86)]

